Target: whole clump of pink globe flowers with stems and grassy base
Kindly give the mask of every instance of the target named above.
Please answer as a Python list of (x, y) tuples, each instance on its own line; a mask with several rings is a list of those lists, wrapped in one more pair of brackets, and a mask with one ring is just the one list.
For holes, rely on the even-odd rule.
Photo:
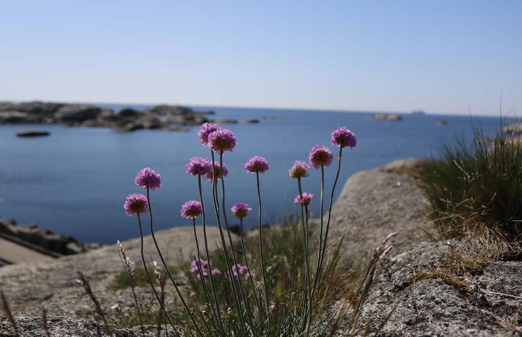
[[(194, 255), (187, 257), (190, 262), (180, 267), (180, 273), (171, 272), (167, 266), (153, 230), (150, 191), (161, 187), (160, 174), (144, 168), (136, 176), (135, 183), (146, 190), (146, 195), (127, 196), (124, 209), (127, 215), (136, 215), (137, 218), (143, 269), (134, 267), (118, 243), (126, 271), (126, 275), (118, 276), (118, 284), (131, 286), (135, 304), (129, 311), (119, 313), (121, 322), (139, 324), (142, 333), (143, 326), (152, 322), (158, 333), (165, 326), (165, 332), (170, 330), (180, 336), (319, 336), (335, 330), (348, 308), (357, 315), (369, 292), (377, 264), (390, 249), (387, 240), (395, 234), (386, 238), (369, 258), (364, 254), (346, 254), (342, 249), (342, 237), (335, 238), (335, 242), (328, 245), (331, 207), (343, 149), (356, 145), (352, 131), (341, 127), (331, 134), (330, 142), (338, 147), (339, 152), (335, 182), (328, 194), (326, 210), (325, 175), (334, 161), (334, 153), (324, 145), (313, 147), (309, 153), (310, 165), (321, 172), (321, 196), (316, 198), (321, 202), (321, 218), (316, 225), (318, 231), (309, 222), (313, 195), (303, 191), (305, 184), (313, 184), (312, 179), (307, 178), (310, 175), (308, 164), (298, 160), (290, 168), (290, 177), (297, 182), (299, 194), (294, 202), (299, 204), (300, 218), (269, 228), (262, 223), (262, 206), (263, 186), (270, 183), (270, 165), (258, 155), (246, 161), (244, 169), (255, 177), (252, 185), (257, 195), (257, 233), (249, 236), (243, 231), (243, 218), (253, 208), (238, 202), (229, 209), (227, 203), (225, 177), (227, 180), (233, 177), (228, 176), (224, 162), (225, 155), (231, 155), (237, 144), (235, 136), (219, 125), (206, 123), (199, 129), (198, 138), (210, 150), (210, 159), (193, 157), (185, 166), (186, 173), (197, 179), (194, 195), (199, 196), (199, 201), (188, 200), (181, 207), (181, 215), (192, 220), (196, 245)], [(208, 187), (202, 184), (202, 180), (208, 180)], [(203, 202), (204, 190), (212, 195), (210, 212)], [(212, 210), (221, 245), (210, 251), (206, 228)], [(154, 268), (150, 270), (144, 255), (142, 220), (146, 213), (163, 269), (160, 263), (153, 262)], [(240, 221), (240, 240), (232, 238), (231, 216), (228, 215)], [(203, 226), (202, 237), (198, 237), (196, 231), (199, 219)], [(312, 235), (314, 232), (318, 232), (318, 237)], [(137, 285), (138, 271), (146, 276), (153, 294), (152, 303), (140, 303), (136, 296), (134, 286)], [(154, 275), (157, 282), (153, 281)], [(141, 279), (141, 285), (145, 285), (143, 276)], [(81, 284), (88, 286), (86, 280)], [(173, 300), (168, 297), (171, 294), (167, 286), (174, 287)], [(106, 323), (100, 304), (93, 295), (91, 298), (98, 316)], [(336, 309), (334, 303), (338, 300), (344, 300), (346, 305)], [(351, 325), (357, 326), (357, 319)], [(172, 329), (167, 329), (167, 326)], [(352, 329), (352, 332), (357, 333), (357, 330)]]

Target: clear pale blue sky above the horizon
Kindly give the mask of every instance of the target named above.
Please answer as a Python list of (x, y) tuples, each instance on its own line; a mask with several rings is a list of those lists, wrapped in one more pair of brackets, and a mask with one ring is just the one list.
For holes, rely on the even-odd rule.
[(0, 100), (522, 110), (522, 1), (3, 1)]

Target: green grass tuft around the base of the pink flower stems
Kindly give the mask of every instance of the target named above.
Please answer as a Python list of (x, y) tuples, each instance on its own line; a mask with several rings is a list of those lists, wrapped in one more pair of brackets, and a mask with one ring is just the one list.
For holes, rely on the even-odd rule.
[[(305, 261), (302, 250), (304, 249), (304, 240), (302, 232), (300, 231), (300, 223), (296, 221), (288, 221), (280, 226), (267, 229), (264, 232), (264, 245), (266, 251), (266, 267), (268, 275), (268, 283), (272, 289), (271, 298), (275, 298), (276, 309), (272, 312), (272, 324), (274, 332), (271, 335), (299, 335), (299, 329), (302, 322), (302, 313), (305, 311), (303, 306), (304, 296), (304, 282), (305, 282)], [(256, 235), (245, 237), (245, 250), (252, 272), (256, 274), (254, 279), (255, 290), (257, 291), (257, 281), (260, 280), (260, 269), (254, 269), (260, 265), (259, 251), (257, 246), (258, 237)], [(361, 294), (364, 292), (362, 283), (364, 279), (364, 271), (369, 268), (365, 264), (367, 261), (366, 254), (361, 254), (361, 251), (354, 252), (353, 255), (341, 252), (343, 239), (340, 238), (333, 243), (327, 251), (328, 259), (325, 260), (325, 268), (321, 282), (318, 284), (317, 293), (314, 297), (314, 311), (311, 323), (310, 335), (324, 335), (327, 327), (338, 327), (337, 322), (341, 322), (343, 315), (347, 309), (354, 309), (359, 302), (364, 299)], [(315, 240), (310, 240), (310, 245), (316, 245)], [(235, 245), (236, 252), (241, 257), (238, 263), (242, 264), (243, 252), (240, 249), (241, 245)], [(300, 251), (301, 250), (301, 251)], [(314, 250), (315, 251), (315, 250)], [(317, 255), (311, 257), (311, 261), (315, 262)], [(211, 253), (210, 260), (213, 269), (221, 271), (226, 270), (226, 264), (221, 250)], [(201, 281), (198, 280), (196, 274), (191, 271), (190, 262), (187, 261), (183, 266), (171, 269), (174, 273), (177, 272), (177, 280), (186, 285), (185, 290), (190, 294), (185, 296), (191, 310), (194, 312), (195, 318), (200, 326), (205, 327), (207, 335), (218, 335), (212, 333), (217, 328), (209, 327), (212, 320), (210, 319), (211, 308), (208, 307), (205, 292)], [(376, 261), (378, 262), (378, 261)], [(374, 265), (372, 264), (372, 268)], [(151, 275), (154, 274), (153, 269), (149, 270)], [(162, 273), (164, 275), (164, 273)], [(126, 279), (125, 279), (126, 278)], [(147, 286), (146, 276), (143, 269), (136, 268), (137, 285)], [(238, 318), (233, 315), (234, 303), (230, 287), (227, 282), (227, 275), (222, 273), (215, 276), (217, 285), (218, 300), (220, 303), (221, 314), (224, 324), (226, 324), (229, 331), (239, 331), (240, 325)], [(206, 278), (207, 286), (209, 280)], [(368, 280), (366, 280), (368, 281)], [(371, 280), (370, 280), (371, 282)], [(262, 315), (265, 312), (259, 312), (254, 300), (254, 294), (250, 281), (243, 283), (248, 294), (249, 305), (253, 311), (254, 317), (252, 321), (254, 324), (260, 324)], [(130, 286), (126, 272), (122, 272), (115, 276), (112, 287), (124, 288)], [(158, 286), (159, 288), (159, 286)], [(184, 310), (180, 310), (181, 303), (176, 298), (172, 289), (165, 288), (165, 300), (167, 302), (166, 309), (169, 312), (174, 324), (180, 328), (180, 332), (184, 335), (195, 335), (192, 330), (191, 321)], [(170, 298), (169, 298), (170, 297)], [(346, 300), (348, 308), (335, 308), (332, 305), (340, 299)], [(172, 304), (173, 301), (173, 304)], [(169, 304), (170, 303), (170, 304)], [(151, 298), (146, 301), (140, 301), (141, 312), (143, 312), (142, 319), (145, 325), (156, 325), (161, 321), (162, 326), (165, 326), (165, 318), (160, 317), (160, 307)], [(351, 306), (351, 307), (350, 307)], [(112, 322), (120, 327), (139, 326), (139, 319), (136, 315), (136, 309), (117, 308)], [(168, 324), (167, 324), (168, 325)], [(170, 327), (169, 327), (170, 328)]]

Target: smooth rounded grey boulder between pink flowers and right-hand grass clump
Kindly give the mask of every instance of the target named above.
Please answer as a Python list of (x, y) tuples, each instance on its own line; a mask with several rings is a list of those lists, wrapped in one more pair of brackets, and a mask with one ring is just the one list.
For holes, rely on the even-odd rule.
[(347, 249), (376, 247), (389, 233), (401, 230), (396, 245), (419, 242), (426, 230), (428, 201), (417, 181), (404, 173), (417, 160), (402, 160), (352, 175), (331, 211), (331, 237), (345, 234)]

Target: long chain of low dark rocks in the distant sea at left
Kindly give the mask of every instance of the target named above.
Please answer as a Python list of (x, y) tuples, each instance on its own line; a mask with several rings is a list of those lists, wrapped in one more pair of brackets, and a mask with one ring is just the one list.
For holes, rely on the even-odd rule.
[(169, 128), (173, 124), (200, 125), (208, 121), (206, 114), (179, 105), (157, 105), (145, 111), (127, 108), (115, 113), (88, 104), (0, 102), (0, 124), (64, 124), (111, 127), (118, 131)]

